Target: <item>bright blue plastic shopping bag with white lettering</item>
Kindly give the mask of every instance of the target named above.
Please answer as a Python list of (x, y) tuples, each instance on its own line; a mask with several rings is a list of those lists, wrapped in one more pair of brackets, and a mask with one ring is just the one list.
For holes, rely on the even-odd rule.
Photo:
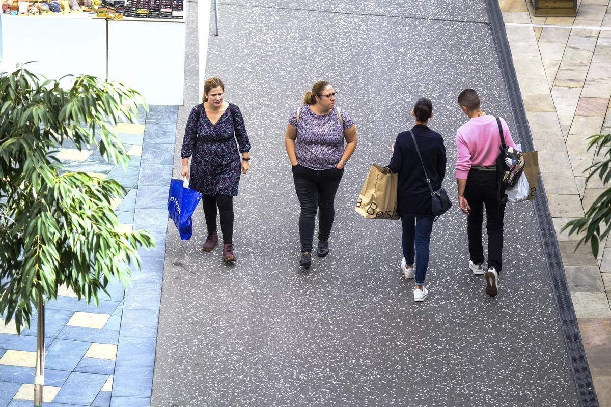
[(167, 197), (167, 212), (169, 218), (174, 220), (174, 225), (180, 233), (180, 239), (191, 239), (193, 223), (191, 216), (197, 204), (202, 199), (202, 194), (189, 187), (185, 178), (172, 178), (170, 181), (170, 193)]

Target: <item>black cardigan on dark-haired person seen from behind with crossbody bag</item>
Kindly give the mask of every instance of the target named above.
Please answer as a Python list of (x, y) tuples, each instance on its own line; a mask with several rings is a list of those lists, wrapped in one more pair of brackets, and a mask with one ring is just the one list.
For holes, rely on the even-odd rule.
[[(422, 160), (434, 190), (441, 187), (445, 177), (445, 146), (441, 134), (423, 124), (412, 128)], [(389, 164), (399, 174), (397, 206), (401, 215), (433, 215), (431, 193), (426, 185), (422, 164), (409, 131), (401, 132), (395, 141), (395, 151)]]

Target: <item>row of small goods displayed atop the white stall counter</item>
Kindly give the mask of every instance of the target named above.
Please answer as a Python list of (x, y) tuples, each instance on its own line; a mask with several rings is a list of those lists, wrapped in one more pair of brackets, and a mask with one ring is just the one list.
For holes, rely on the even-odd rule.
[(11, 15), (67, 15), (88, 12), (97, 18), (182, 19), (183, 0), (0, 0), (2, 12)]

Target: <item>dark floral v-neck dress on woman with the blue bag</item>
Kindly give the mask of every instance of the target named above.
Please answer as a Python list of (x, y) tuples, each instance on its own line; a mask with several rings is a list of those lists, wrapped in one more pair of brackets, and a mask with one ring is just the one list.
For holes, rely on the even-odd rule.
[(189, 178), (192, 189), (202, 195), (238, 195), (240, 153), (251, 149), (240, 108), (230, 103), (216, 124), (212, 124), (202, 106), (199, 122), (196, 121), (197, 106), (189, 114), (180, 152), (183, 158), (193, 156)]

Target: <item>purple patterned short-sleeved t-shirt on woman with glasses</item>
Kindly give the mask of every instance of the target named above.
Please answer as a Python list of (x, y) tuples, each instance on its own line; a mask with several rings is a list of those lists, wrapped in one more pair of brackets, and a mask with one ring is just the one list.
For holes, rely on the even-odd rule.
[(304, 104), (293, 112), (288, 123), (297, 128), (295, 154), (297, 162), (312, 170), (328, 170), (340, 162), (344, 151), (343, 131), (354, 126), (352, 117), (343, 109), (342, 122), (337, 115), (337, 107), (326, 115), (317, 115), (310, 106)]

